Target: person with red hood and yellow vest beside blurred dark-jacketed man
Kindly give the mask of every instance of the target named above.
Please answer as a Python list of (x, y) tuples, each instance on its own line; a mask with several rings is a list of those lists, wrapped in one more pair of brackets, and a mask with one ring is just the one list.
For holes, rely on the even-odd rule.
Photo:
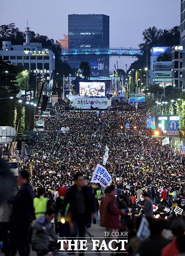
[(59, 235), (60, 237), (70, 237), (70, 224), (69, 224), (69, 219), (67, 217), (69, 203), (67, 204), (65, 213), (64, 213), (65, 223), (61, 223), (61, 218), (63, 217), (61, 215), (61, 209), (62, 209), (64, 196), (67, 192), (67, 188), (60, 187), (58, 192), (59, 192), (59, 197), (56, 198), (55, 211), (58, 213), (57, 225), (58, 225)]

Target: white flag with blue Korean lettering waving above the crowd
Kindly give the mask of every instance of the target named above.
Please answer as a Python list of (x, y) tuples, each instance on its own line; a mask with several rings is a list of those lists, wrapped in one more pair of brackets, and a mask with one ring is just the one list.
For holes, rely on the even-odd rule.
[(110, 174), (102, 165), (98, 163), (94, 170), (91, 182), (100, 183), (101, 186), (107, 187), (109, 186), (111, 181), (112, 181), (112, 178)]

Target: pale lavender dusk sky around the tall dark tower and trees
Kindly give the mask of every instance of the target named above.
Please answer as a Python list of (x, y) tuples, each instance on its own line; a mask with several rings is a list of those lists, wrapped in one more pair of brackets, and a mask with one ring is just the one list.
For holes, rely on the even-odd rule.
[[(142, 32), (148, 27), (170, 29), (180, 25), (180, 0), (1, 0), (0, 3), (0, 25), (14, 22), (24, 31), (28, 20), (35, 33), (55, 40), (68, 34), (68, 14), (109, 15), (110, 47), (114, 48), (138, 48)], [(122, 69), (134, 61), (126, 57), (111, 58), (110, 70), (116, 60)]]

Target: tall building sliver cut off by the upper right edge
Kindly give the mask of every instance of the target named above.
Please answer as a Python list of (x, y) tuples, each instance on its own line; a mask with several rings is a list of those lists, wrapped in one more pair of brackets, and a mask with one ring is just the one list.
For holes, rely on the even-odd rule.
[(181, 0), (182, 89), (185, 89), (185, 0)]

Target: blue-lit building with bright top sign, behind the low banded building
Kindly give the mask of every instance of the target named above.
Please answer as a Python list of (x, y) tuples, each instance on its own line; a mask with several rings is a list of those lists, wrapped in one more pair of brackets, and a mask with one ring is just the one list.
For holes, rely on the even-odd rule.
[(160, 47), (152, 47), (150, 50), (151, 52), (151, 57), (150, 57), (150, 84), (153, 84), (153, 64), (157, 61), (157, 58), (159, 57), (160, 54), (164, 53), (168, 48), (171, 49), (171, 47), (167, 46), (160, 46)]

